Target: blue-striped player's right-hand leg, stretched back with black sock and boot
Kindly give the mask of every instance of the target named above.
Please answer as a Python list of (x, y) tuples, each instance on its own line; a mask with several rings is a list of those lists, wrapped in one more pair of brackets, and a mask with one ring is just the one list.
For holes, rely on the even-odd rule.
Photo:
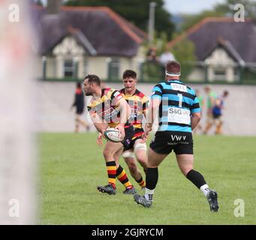
[(210, 210), (218, 211), (217, 193), (215, 190), (209, 189), (209, 186), (206, 184), (203, 175), (200, 172), (194, 170), (194, 155), (182, 154), (182, 151), (176, 151), (176, 160), (183, 175), (185, 175), (188, 180), (197, 186), (198, 189), (203, 192), (204, 196), (206, 196), (210, 205)]

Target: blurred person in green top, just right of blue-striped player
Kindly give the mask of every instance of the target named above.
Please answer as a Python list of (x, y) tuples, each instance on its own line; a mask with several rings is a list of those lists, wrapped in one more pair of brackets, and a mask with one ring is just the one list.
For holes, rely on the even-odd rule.
[(213, 116), (212, 116), (212, 107), (215, 105), (215, 99), (217, 98), (217, 95), (215, 92), (212, 91), (211, 87), (209, 85), (205, 86), (204, 91), (207, 95), (206, 100), (206, 127), (203, 131), (204, 134), (207, 134), (210, 128), (212, 127), (213, 122)]

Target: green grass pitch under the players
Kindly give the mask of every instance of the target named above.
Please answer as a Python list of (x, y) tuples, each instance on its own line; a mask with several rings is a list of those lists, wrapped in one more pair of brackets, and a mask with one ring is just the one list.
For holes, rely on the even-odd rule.
[[(158, 168), (152, 208), (143, 208), (122, 193), (119, 182), (116, 196), (96, 189), (107, 184), (96, 133), (41, 133), (39, 138), (39, 224), (256, 224), (256, 137), (194, 137), (194, 169), (218, 191), (218, 213), (209, 211), (203, 193), (179, 171), (174, 154)], [(124, 160), (120, 163), (128, 172)], [(235, 199), (245, 202), (244, 217), (235, 217)]]

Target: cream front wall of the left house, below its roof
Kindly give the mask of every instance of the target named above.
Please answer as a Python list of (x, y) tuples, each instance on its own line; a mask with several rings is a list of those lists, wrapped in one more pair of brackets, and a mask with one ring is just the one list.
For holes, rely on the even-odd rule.
[[(97, 74), (102, 80), (107, 80), (109, 76), (109, 62), (113, 59), (119, 62), (119, 79), (122, 80), (122, 74), (127, 69), (137, 72), (140, 77), (140, 64), (144, 61), (144, 49), (140, 46), (138, 53), (134, 58), (125, 58), (119, 56), (92, 56), (89, 55), (77, 40), (72, 36), (65, 37), (53, 49), (53, 55), (47, 55), (47, 78), (61, 79), (65, 77), (64, 65), (65, 59), (73, 59), (77, 62), (77, 77), (83, 79), (86, 74)], [(38, 62), (39, 65), (39, 62)], [(41, 76), (43, 74), (41, 58)]]

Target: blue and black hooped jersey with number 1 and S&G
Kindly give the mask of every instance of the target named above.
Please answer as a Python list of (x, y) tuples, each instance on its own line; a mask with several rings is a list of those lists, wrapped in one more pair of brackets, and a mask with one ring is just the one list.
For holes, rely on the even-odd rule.
[(158, 131), (191, 132), (191, 113), (200, 112), (197, 96), (193, 89), (179, 80), (159, 83), (152, 89), (152, 99), (158, 98)]

